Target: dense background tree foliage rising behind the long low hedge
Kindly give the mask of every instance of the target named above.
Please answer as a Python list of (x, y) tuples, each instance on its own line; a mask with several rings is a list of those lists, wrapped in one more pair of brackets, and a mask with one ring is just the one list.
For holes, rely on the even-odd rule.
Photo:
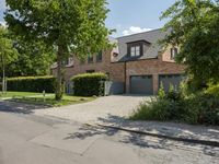
[(25, 43), (14, 37), (18, 59), (7, 66), (8, 77), (48, 75), (55, 62), (55, 52), (43, 43)]

